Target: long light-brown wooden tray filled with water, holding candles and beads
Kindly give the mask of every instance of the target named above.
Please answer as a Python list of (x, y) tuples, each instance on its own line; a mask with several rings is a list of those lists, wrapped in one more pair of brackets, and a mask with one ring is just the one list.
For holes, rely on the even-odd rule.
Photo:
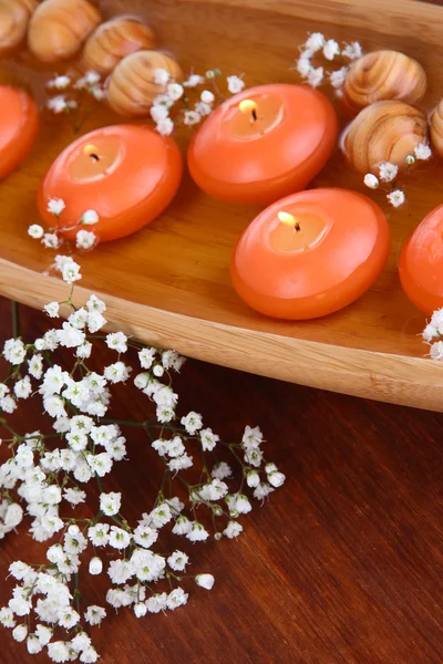
[[(430, 74), (425, 107), (443, 96), (443, 8), (411, 0), (103, 0), (104, 17), (138, 13), (184, 69), (246, 72), (248, 84), (295, 82), (289, 70), (307, 31), (392, 48)], [(3, 63), (0, 80), (28, 80), (41, 97), (48, 71)], [(105, 108), (82, 132), (122, 122)], [(0, 184), (0, 293), (41, 308), (66, 291), (48, 271), (52, 252), (27, 237), (39, 221), (35, 191), (53, 158), (73, 141), (68, 118), (43, 124), (32, 154)], [(185, 147), (186, 139), (182, 141)], [(84, 255), (78, 301), (91, 291), (109, 303), (107, 319), (138, 340), (193, 357), (315, 387), (443, 411), (443, 369), (423, 354), (424, 317), (402, 293), (396, 273), (410, 230), (443, 200), (443, 166), (423, 166), (406, 184), (408, 204), (388, 210), (389, 263), (374, 287), (337, 314), (279, 322), (249, 310), (229, 281), (236, 238), (259, 208), (210, 199), (186, 175), (171, 207), (150, 227)], [(313, 186), (363, 190), (339, 153)], [(368, 193), (368, 190), (365, 190)], [(384, 205), (383, 195), (374, 198)]]

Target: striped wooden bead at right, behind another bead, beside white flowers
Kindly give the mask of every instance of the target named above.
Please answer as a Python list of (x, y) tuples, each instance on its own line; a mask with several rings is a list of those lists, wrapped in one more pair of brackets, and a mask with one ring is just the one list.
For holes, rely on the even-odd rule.
[(426, 73), (416, 60), (398, 51), (374, 51), (350, 66), (343, 91), (349, 104), (360, 110), (383, 100), (415, 104), (426, 85)]

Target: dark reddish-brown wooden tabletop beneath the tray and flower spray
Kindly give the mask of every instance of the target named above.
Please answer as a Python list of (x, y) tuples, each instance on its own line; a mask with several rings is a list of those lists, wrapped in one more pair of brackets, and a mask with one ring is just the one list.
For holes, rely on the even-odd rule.
[[(23, 335), (34, 338), (43, 315), (21, 312)], [(0, 317), (4, 339), (6, 300)], [(198, 404), (228, 437), (259, 421), (288, 481), (244, 518), (237, 541), (194, 546), (195, 569), (216, 575), (212, 592), (189, 581), (188, 606), (167, 616), (110, 610), (93, 630), (104, 664), (442, 662), (443, 415), (194, 361), (178, 383), (183, 412)], [(146, 402), (133, 395), (122, 392), (121, 415), (141, 418)], [(39, 424), (35, 409), (29, 426)], [(128, 450), (117, 483), (135, 519), (154, 499), (155, 459), (143, 437), (131, 435)], [(11, 560), (42, 554), (23, 531), (1, 542), (0, 605)], [(101, 603), (105, 579), (89, 579)], [(32, 661), (0, 629), (1, 664)]]

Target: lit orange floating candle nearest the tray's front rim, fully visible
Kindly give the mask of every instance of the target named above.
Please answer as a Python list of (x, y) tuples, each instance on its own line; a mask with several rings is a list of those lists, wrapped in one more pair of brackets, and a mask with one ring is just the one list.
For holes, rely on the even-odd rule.
[(272, 318), (313, 319), (350, 304), (388, 259), (385, 216), (347, 189), (311, 189), (278, 200), (247, 227), (234, 250), (240, 298)]

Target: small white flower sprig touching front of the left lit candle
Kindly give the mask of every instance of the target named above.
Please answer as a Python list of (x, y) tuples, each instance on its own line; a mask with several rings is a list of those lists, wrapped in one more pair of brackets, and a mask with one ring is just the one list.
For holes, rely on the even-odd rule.
[[(48, 211), (59, 219), (63, 210), (66, 208), (66, 204), (62, 198), (50, 198), (48, 200), (47, 209)], [(44, 231), (44, 228), (40, 226), (40, 224), (31, 224), (28, 228), (28, 235), (34, 240), (40, 240), (43, 247), (48, 249), (60, 249), (63, 245), (63, 231), (65, 230), (75, 230), (80, 226), (93, 226), (100, 221), (100, 217), (95, 210), (86, 210), (80, 217), (76, 226), (63, 227), (60, 225), (54, 226), (49, 229), (48, 232)], [(78, 230), (75, 234), (75, 247), (82, 250), (93, 249), (97, 243), (97, 237), (92, 230), (85, 230), (82, 228)]]

